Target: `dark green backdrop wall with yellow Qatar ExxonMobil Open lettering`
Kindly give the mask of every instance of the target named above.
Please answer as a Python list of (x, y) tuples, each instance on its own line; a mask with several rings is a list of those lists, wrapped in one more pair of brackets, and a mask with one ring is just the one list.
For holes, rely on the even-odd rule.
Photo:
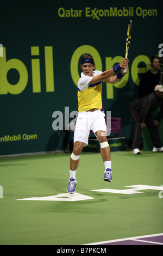
[(131, 19), (129, 73), (102, 89), (105, 111), (122, 118), (130, 144), (129, 104), (162, 43), (161, 1), (3, 1), (0, 17), (0, 155), (65, 149), (66, 133), (52, 124), (65, 126), (65, 107), (77, 111), (82, 54), (101, 71), (121, 62)]

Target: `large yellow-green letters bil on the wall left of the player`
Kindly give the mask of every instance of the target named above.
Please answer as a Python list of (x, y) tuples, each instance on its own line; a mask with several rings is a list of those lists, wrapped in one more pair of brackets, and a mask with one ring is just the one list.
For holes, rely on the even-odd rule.
[[(31, 55), (39, 56), (39, 46), (31, 47)], [(33, 93), (41, 93), (40, 59), (32, 58), (32, 86)], [(24, 63), (19, 59), (9, 59), (7, 61), (6, 48), (3, 48), (3, 57), (0, 58), (0, 95), (20, 94), (27, 86), (28, 72)], [(16, 69), (19, 74), (17, 84), (10, 84), (7, 74), (10, 69)], [(54, 92), (54, 72), (53, 72), (53, 47), (45, 46), (45, 74), (46, 92)]]

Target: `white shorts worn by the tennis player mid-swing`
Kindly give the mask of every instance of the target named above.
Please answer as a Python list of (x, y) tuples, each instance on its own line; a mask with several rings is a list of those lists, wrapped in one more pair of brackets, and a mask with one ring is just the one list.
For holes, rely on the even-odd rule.
[(88, 145), (90, 130), (106, 132), (105, 114), (98, 109), (97, 111), (86, 111), (78, 114), (76, 129), (74, 131), (74, 143), (83, 142)]

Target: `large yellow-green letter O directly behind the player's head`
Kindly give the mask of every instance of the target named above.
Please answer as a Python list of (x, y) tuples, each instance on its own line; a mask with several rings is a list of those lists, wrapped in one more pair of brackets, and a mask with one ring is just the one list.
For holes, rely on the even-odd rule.
[(79, 81), (79, 59), (82, 56), (82, 54), (84, 53), (88, 53), (92, 56), (92, 58), (95, 60), (95, 64), (96, 65), (96, 70), (102, 71), (102, 60), (101, 57), (98, 53), (98, 51), (90, 45), (82, 45), (80, 47), (77, 48), (76, 51), (74, 51), (72, 58), (71, 58), (71, 64), (70, 64), (70, 70), (71, 70), (71, 76), (72, 76), (72, 80), (74, 82), (74, 84), (76, 84), (76, 86), (78, 85), (78, 81)]

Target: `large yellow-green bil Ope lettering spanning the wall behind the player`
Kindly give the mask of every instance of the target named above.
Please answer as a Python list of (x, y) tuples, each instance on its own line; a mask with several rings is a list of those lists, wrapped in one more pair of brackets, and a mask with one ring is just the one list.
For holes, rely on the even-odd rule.
[[(79, 72), (79, 60), (82, 57), (83, 53), (90, 54), (95, 60), (96, 70), (103, 71), (102, 69), (102, 60), (96, 48), (90, 45), (82, 45), (74, 51), (71, 63), (70, 70), (71, 76), (74, 84), (78, 84), (80, 78)], [(41, 93), (41, 76), (40, 76), (40, 58), (39, 56), (39, 46), (31, 47), (32, 56), (32, 87), (33, 93)], [(117, 63), (122, 62), (122, 56), (115, 56), (114, 58), (106, 57), (105, 58), (105, 70), (111, 69)], [(139, 74), (143, 74), (151, 69), (149, 65), (149, 58), (145, 55), (139, 55), (135, 57), (133, 63), (129, 63), (131, 66), (131, 78), (133, 82), (139, 86), (140, 78)], [(143, 67), (142, 64), (143, 63)], [(26, 65), (20, 59), (9, 59), (7, 60), (6, 48), (3, 47), (3, 57), (0, 57), (0, 95), (4, 94), (20, 94), (27, 86), (28, 82), (28, 72)], [(19, 80), (16, 84), (11, 84), (8, 81), (7, 75), (10, 69), (15, 69), (18, 71)], [(54, 92), (54, 70), (53, 70), (53, 47), (45, 46), (45, 78), (46, 78), (46, 92)], [(126, 74), (122, 80), (116, 84), (106, 83), (106, 99), (114, 99), (114, 87), (117, 89), (123, 88), (126, 86), (129, 78), (129, 72)], [(134, 86), (134, 84), (133, 84)]]

